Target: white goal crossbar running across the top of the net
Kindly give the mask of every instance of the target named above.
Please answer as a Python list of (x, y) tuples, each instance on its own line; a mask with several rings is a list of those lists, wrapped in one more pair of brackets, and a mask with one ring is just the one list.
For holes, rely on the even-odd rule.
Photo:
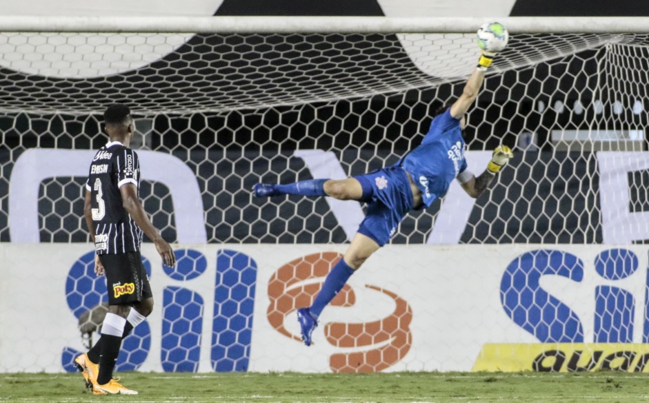
[(488, 21), (511, 33), (649, 33), (649, 17), (43, 17), (0, 16), (0, 32), (432, 33), (474, 32)]

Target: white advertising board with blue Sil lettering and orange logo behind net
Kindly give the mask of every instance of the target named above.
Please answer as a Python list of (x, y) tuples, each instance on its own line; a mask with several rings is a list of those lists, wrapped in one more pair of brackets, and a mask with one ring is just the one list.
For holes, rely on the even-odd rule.
[[(170, 269), (144, 245), (156, 309), (125, 340), (118, 370), (644, 371), (649, 361), (643, 245), (388, 245), (307, 348), (294, 309), (344, 249), (179, 245)], [(107, 298), (94, 251), (3, 243), (0, 256), (0, 371), (74, 371), (77, 318)]]

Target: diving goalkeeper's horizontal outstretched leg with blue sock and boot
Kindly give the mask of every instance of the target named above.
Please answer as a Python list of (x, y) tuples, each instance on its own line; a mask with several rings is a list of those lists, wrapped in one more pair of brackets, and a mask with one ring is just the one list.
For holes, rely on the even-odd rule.
[(309, 197), (330, 196), (339, 200), (361, 200), (363, 198), (363, 187), (356, 178), (309, 179), (286, 185), (257, 183), (254, 185), (253, 191), (257, 197), (296, 194)]

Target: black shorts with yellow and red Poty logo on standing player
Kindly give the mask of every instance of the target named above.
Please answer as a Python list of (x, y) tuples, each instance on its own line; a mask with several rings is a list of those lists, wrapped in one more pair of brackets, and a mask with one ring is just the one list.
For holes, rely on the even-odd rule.
[(139, 252), (99, 255), (99, 260), (106, 269), (108, 304), (136, 304), (153, 296)]

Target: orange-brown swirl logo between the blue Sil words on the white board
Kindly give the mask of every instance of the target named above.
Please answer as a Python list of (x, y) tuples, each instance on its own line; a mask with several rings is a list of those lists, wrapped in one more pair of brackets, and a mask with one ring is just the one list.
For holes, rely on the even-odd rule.
[[(288, 316), (294, 319), (294, 311), (297, 308), (308, 307), (314, 300), (321, 283), (308, 280), (324, 280), (341, 258), (342, 255), (335, 252), (311, 254), (288, 262), (273, 274), (268, 283), (270, 304), (267, 317), (274, 329), (292, 340), (301, 342), (299, 335), (286, 329), (284, 320)], [(412, 309), (408, 302), (386, 289), (373, 285), (366, 287), (388, 296), (395, 302), (396, 307), (390, 316), (381, 320), (324, 324), (325, 339), (329, 344), (345, 349), (358, 349), (350, 353), (332, 354), (329, 366), (334, 372), (382, 371), (399, 362), (410, 351)], [(330, 304), (335, 307), (352, 307), (355, 302), (354, 290), (345, 285)], [(317, 342), (316, 340), (314, 344)]]

